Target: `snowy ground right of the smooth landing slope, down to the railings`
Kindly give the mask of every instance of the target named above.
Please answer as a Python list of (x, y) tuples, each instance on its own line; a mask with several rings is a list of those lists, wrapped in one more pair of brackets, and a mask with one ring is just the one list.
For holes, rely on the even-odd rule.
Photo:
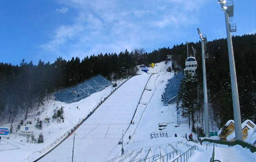
[[(134, 125), (129, 127), (129, 130), (123, 137), (124, 149), (127, 151), (127, 155), (133, 153), (130, 159), (125, 159), (126, 161), (139, 158), (144, 159), (159, 154), (165, 155), (173, 151), (173, 149), (168, 147), (169, 144), (173, 144), (176, 147), (178, 141), (186, 141), (184, 138), (185, 133), (188, 135), (191, 133), (186, 118), (180, 118), (181, 125), (176, 127), (176, 102), (174, 101), (173, 104), (164, 106), (161, 101), (166, 82), (174, 76), (173, 73), (166, 72), (168, 66), (171, 66), (171, 64), (164, 65), (164, 62), (162, 62), (162, 66), (156, 66), (158, 72), (157, 70), (153, 72), (155, 74), (151, 76), (147, 84), (147, 90), (141, 97), (141, 102), (135, 114)], [(167, 127), (159, 131), (159, 123), (167, 123)], [(151, 139), (151, 133), (167, 133), (168, 137)], [(174, 137), (175, 133), (178, 137)], [(131, 136), (130, 140), (129, 136)], [(184, 148), (184, 150), (187, 149), (188, 147)], [(136, 154), (136, 151), (137, 153), (139, 151), (139, 153)], [(147, 151), (149, 151), (148, 155)], [(120, 150), (117, 155), (112, 154), (109, 156), (109, 159), (118, 156), (120, 156), (119, 160), (123, 161)]]

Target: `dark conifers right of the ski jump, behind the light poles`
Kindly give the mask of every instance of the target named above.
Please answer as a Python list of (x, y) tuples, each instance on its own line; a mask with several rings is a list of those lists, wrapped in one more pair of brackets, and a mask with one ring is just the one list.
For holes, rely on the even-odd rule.
[[(202, 84), (202, 54), (200, 44), (189, 44), (197, 51), (196, 82), (184, 80), (178, 95), (177, 107), (188, 108), (184, 115), (190, 118), (189, 124), (195, 131), (195, 123), (203, 127), (204, 94)], [(186, 46), (183, 47), (184, 50)], [(256, 121), (256, 35), (243, 35), (233, 37), (235, 65), (237, 71), (237, 84), (242, 121), (246, 119)], [(174, 49), (180, 50), (179, 46)], [(190, 50), (192, 52), (192, 49)], [(180, 51), (181, 52), (181, 51)], [(180, 53), (176, 52), (176, 53)], [(227, 120), (233, 119), (233, 103), (231, 93), (231, 78), (229, 71), (229, 56), (227, 39), (217, 39), (208, 42), (209, 58), (206, 59), (206, 79), (208, 90), (208, 106), (210, 125), (220, 128)], [(182, 59), (179, 59), (183, 57)], [(184, 68), (186, 56), (177, 56), (178, 64)], [(180, 105), (180, 103), (182, 103)]]

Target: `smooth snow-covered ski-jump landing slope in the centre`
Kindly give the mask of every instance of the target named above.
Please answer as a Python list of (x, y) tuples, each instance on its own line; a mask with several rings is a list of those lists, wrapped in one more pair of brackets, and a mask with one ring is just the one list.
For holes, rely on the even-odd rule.
[[(75, 132), (74, 161), (105, 161), (127, 129), (149, 75), (134, 76), (114, 92)], [(70, 161), (73, 136), (40, 161)]]

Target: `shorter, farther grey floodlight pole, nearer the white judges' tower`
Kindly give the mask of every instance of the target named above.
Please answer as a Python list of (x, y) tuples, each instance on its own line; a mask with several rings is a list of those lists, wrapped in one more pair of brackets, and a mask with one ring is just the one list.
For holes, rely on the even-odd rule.
[(202, 80), (204, 86), (204, 134), (206, 137), (210, 137), (209, 130), (209, 112), (208, 112), (208, 96), (207, 96), (207, 83), (206, 83), (206, 68), (205, 68), (205, 57), (204, 57), (204, 44), (206, 44), (206, 36), (202, 35), (201, 30), (197, 28), (198, 34), (201, 39), (202, 46)]

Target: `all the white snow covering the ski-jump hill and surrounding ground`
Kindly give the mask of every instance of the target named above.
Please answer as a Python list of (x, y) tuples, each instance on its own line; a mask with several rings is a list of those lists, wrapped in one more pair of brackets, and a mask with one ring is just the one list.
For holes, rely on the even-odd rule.
[[(44, 134), (45, 143), (43, 144), (26, 143), (25, 137), (17, 134), (11, 135), (9, 140), (1, 140), (2, 161), (34, 161), (46, 153), (49, 145), (77, 125), (109, 94), (111, 96), (76, 129), (73, 135), (40, 161), (71, 161), (73, 140), (74, 161), (79, 162), (103, 162), (111, 159), (113, 159), (111, 161), (124, 162), (140, 159), (153, 161), (162, 155), (178, 151), (178, 154), (174, 153), (172, 157), (174, 160), (194, 145), (198, 147), (198, 151), (194, 151), (188, 161), (210, 161), (212, 146), (186, 141), (185, 133), (187, 135), (191, 133), (188, 118), (180, 116), (180, 125), (177, 125), (176, 100), (172, 100), (168, 106), (161, 101), (168, 79), (174, 76), (173, 72), (166, 72), (171, 65), (172, 62), (168, 64), (160, 62), (155, 64), (154, 68), (149, 68), (147, 73), (138, 70), (140, 75), (127, 80), (113, 94), (111, 94), (113, 87), (109, 86), (101, 92), (72, 104), (50, 100), (39, 109), (41, 112), (39, 117), (41, 119), (47, 116), (52, 117), (54, 109), (62, 106), (64, 123), (57, 123), (52, 119), (49, 124), (44, 123), (43, 129), (36, 131), (37, 135)], [(31, 114), (28, 120), (34, 123), (35, 115), (36, 112)], [(161, 123), (166, 125), (161, 127), (162, 131), (159, 130)], [(158, 133), (158, 135), (167, 133), (168, 137), (151, 138), (151, 133)], [(250, 130), (249, 133), (248, 138), (255, 139), (255, 129)], [(175, 134), (178, 137), (175, 137)], [(193, 137), (197, 139), (194, 133)], [(118, 145), (120, 141), (123, 141), (124, 155), (121, 155), (122, 145)], [(238, 145), (234, 147), (216, 145), (215, 155), (215, 159), (220, 161), (255, 161), (256, 158), (256, 153), (251, 153)]]

